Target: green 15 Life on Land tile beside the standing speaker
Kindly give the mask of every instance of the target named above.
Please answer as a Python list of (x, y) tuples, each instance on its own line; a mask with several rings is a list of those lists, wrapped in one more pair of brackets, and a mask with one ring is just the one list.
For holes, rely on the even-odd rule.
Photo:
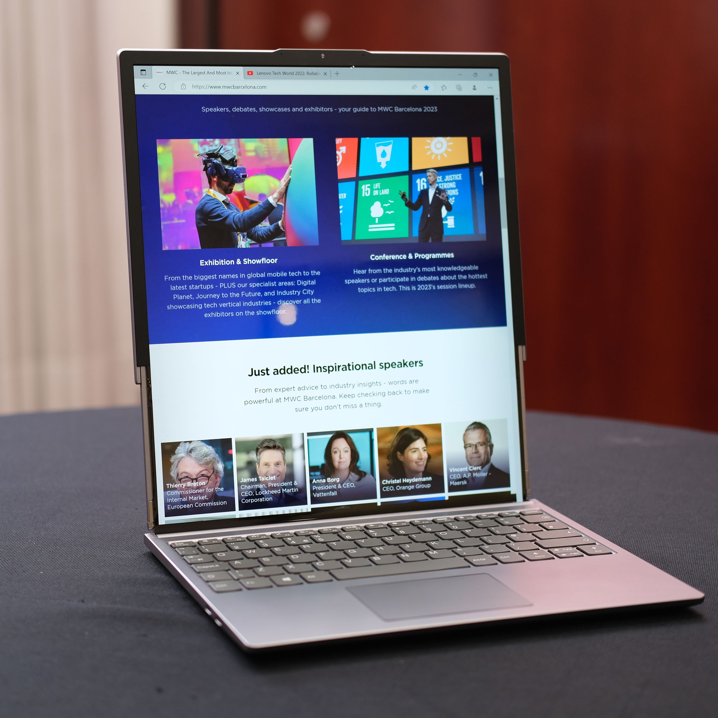
[(383, 177), (358, 184), (355, 238), (409, 236), (409, 210), (399, 196), (409, 191), (409, 177)]

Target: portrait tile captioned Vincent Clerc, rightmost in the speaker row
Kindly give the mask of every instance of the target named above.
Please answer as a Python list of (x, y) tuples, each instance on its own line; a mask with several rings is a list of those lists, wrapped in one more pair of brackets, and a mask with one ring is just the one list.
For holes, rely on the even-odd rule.
[(444, 424), (444, 436), (449, 447), (449, 491), (477, 491), (510, 485), (505, 419)]

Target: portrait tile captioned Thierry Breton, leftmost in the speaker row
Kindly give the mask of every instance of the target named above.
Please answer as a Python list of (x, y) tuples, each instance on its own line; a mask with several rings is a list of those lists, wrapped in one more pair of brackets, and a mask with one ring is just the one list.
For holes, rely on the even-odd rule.
[(231, 439), (162, 444), (164, 516), (235, 513)]

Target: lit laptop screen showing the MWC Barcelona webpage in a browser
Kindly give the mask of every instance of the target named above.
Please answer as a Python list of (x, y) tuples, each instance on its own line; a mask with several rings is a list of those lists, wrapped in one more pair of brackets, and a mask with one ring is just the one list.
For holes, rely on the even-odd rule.
[(523, 500), (498, 70), (134, 82), (159, 523)]

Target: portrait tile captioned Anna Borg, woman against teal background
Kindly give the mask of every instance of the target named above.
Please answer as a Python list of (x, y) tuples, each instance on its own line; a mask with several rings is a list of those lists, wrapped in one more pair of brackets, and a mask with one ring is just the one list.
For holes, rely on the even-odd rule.
[(312, 505), (376, 501), (372, 429), (307, 434)]

